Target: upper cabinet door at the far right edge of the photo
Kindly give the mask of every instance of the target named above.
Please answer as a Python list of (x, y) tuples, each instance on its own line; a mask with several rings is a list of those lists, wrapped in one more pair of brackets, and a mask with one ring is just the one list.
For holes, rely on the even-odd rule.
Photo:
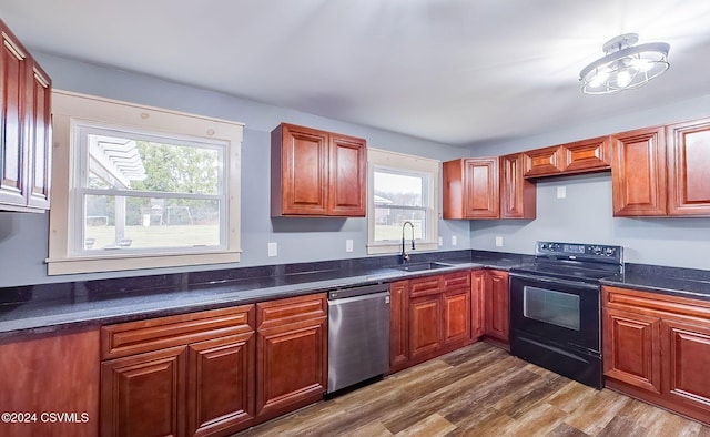
[(668, 126), (668, 213), (710, 215), (710, 119)]

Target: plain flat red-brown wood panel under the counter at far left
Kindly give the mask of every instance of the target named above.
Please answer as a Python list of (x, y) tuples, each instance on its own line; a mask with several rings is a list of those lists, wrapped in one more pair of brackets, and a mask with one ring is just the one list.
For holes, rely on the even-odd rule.
[[(0, 421), (1, 436), (93, 437), (99, 434), (99, 329), (28, 334), (0, 342), (0, 411), (33, 413)], [(42, 421), (42, 413), (77, 413), (75, 423)], [(82, 416), (85, 414), (85, 416)]]

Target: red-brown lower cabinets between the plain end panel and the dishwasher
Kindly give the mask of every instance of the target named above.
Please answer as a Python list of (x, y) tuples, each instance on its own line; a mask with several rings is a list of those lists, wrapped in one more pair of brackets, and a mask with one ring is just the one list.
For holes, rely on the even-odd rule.
[(317, 294), (102, 327), (101, 435), (226, 436), (321, 399), (326, 309)]

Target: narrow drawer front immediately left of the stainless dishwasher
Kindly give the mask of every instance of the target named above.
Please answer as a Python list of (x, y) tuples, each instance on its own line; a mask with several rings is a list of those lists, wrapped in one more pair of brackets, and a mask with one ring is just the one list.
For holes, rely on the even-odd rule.
[(325, 293), (256, 304), (256, 326), (258, 329), (326, 316)]

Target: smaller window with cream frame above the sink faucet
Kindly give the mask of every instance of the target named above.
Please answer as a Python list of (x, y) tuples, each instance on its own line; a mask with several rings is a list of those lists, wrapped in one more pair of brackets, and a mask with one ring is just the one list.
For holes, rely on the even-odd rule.
[[(367, 253), (398, 253), (406, 222), (414, 225), (417, 250), (438, 247), (437, 181), (439, 162), (400, 153), (367, 150)], [(405, 237), (412, 237), (407, 226)]]

